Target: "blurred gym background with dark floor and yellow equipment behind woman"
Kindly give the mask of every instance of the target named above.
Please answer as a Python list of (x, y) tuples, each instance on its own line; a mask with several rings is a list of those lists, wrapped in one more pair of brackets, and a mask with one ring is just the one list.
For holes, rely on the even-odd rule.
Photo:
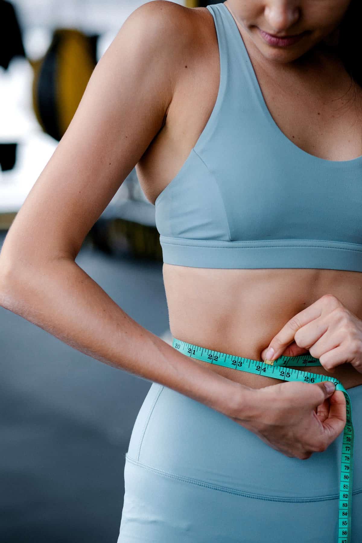
[[(94, 66), (142, 3), (0, 0), (0, 248)], [(76, 262), (133, 319), (171, 343), (155, 207), (135, 170)], [(117, 541), (124, 455), (151, 382), (2, 307), (0, 326), (0, 541)]]

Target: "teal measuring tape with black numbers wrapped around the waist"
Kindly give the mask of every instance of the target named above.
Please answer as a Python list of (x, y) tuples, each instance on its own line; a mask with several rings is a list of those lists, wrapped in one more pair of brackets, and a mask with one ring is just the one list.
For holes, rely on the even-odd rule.
[(338, 543), (351, 543), (354, 429), (352, 424), (351, 398), (342, 383), (334, 377), (288, 367), (288, 364), (291, 362), (293, 362), (293, 366), (302, 366), (304, 368), (308, 366), (321, 366), (322, 364), (319, 362), (319, 359), (311, 355), (280, 356), (272, 362), (258, 362), (250, 358), (227, 355), (224, 352), (205, 349), (176, 338), (173, 339), (172, 346), (177, 351), (191, 358), (209, 362), (210, 364), (218, 364), (225, 368), (265, 375), (266, 377), (273, 377), (283, 381), (302, 381), (303, 383), (332, 381), (335, 384), (336, 390), (342, 390), (346, 398), (346, 425), (343, 431), (341, 456)]

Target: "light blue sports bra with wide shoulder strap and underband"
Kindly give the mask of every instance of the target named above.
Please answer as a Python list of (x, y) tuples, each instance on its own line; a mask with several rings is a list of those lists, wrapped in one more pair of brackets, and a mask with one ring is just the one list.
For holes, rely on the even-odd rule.
[(198, 268), (362, 271), (362, 156), (331, 161), (278, 128), (224, 3), (207, 6), (217, 99), (186, 162), (155, 201), (163, 262)]

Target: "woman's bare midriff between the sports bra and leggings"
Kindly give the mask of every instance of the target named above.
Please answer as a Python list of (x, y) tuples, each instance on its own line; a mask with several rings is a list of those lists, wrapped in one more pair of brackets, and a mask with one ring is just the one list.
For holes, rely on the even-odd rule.
[[(174, 338), (260, 362), (262, 351), (288, 320), (323, 294), (334, 294), (362, 319), (362, 275), (353, 271), (202, 269), (164, 264), (163, 281)], [(208, 367), (251, 388), (279, 382), (218, 365)], [(362, 384), (362, 374), (348, 363), (330, 374), (322, 366), (309, 370), (336, 377), (346, 389)]]

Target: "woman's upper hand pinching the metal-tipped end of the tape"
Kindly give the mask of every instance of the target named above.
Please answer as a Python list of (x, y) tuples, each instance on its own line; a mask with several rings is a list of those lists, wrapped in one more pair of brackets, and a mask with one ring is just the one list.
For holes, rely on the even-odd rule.
[[(269, 348), (274, 349), (274, 355), (268, 353)], [(276, 360), (308, 351), (329, 372), (349, 362), (362, 373), (362, 320), (333, 294), (325, 294), (288, 320), (261, 358)]]

